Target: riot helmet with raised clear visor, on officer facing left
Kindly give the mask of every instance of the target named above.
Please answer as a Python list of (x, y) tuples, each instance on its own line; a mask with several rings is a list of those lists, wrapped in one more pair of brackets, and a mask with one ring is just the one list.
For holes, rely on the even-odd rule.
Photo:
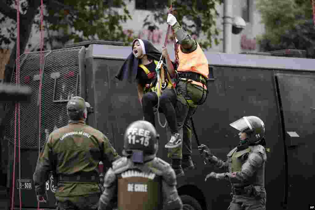
[(244, 116), (230, 124), (240, 132), (247, 134), (248, 143), (254, 144), (265, 138), (265, 124), (256, 116)]

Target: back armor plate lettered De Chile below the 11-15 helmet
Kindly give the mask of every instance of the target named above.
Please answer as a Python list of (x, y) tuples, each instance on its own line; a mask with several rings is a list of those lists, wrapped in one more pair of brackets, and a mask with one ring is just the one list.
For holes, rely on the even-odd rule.
[(129, 169), (117, 175), (119, 210), (160, 210), (163, 208), (162, 177)]

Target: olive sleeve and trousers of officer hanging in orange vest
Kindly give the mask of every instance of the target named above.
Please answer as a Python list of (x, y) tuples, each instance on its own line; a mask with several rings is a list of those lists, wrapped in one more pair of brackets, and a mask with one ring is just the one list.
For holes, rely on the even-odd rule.
[[(183, 53), (191, 53), (197, 49), (197, 42), (181, 28), (178, 22), (176, 22), (172, 28), (180, 43)], [(185, 169), (189, 166), (193, 167), (192, 162), (187, 162), (191, 161), (190, 156), (192, 154), (192, 130), (189, 125), (189, 120), (198, 107), (197, 102), (203, 101), (205, 99), (206, 92), (201, 87), (197, 87), (197, 85), (181, 79), (178, 80), (176, 88), (177, 104), (175, 111), (178, 128), (182, 128), (180, 133), (183, 135), (183, 144), (179, 147), (169, 149), (168, 157), (172, 159), (184, 159), (182, 167)], [(191, 99), (187, 100), (187, 98)], [(176, 168), (174, 169), (178, 175)]]

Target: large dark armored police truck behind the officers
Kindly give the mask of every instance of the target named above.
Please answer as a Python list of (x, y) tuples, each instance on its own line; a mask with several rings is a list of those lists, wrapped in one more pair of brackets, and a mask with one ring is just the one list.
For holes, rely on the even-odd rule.
[[(32, 174), (38, 152), (49, 133), (67, 124), (66, 103), (72, 96), (79, 95), (91, 104), (87, 123), (105, 133), (121, 155), (126, 127), (143, 118), (135, 84), (115, 78), (130, 53), (131, 47), (122, 43), (78, 43), (43, 52), (42, 74), (40, 52), (20, 56), (20, 84), (30, 86), (33, 97), (29, 105), (20, 106), (20, 116), (7, 105), (13, 110), (7, 119), (3, 143), (8, 145), (3, 150), (8, 166), (3, 168), (8, 169), (9, 206), (14, 192), (14, 208), (19, 208), (20, 203), (22, 209), (37, 208)], [(174, 52), (169, 53), (174, 58)], [(308, 207), (313, 201), (315, 183), (315, 60), (211, 52), (205, 55), (209, 61), (209, 94), (193, 115), (199, 141), (226, 160), (226, 154), (238, 144), (237, 131), (229, 124), (242, 116), (260, 117), (266, 125), (266, 147), (270, 148), (265, 180), (267, 208)], [(14, 73), (13, 84), (16, 77)], [(163, 122), (165, 118), (160, 115)], [(15, 122), (19, 120), (18, 126)], [(157, 156), (169, 162), (164, 148), (169, 139), (167, 128), (156, 125), (161, 136)], [(231, 201), (231, 186), (228, 182), (204, 182), (208, 173), (224, 171), (203, 163), (194, 138), (196, 135), (192, 139), (195, 169), (177, 178), (184, 207), (226, 209)], [(55, 207), (55, 189), (50, 176), (46, 182), (49, 201), (40, 204), (40, 208)]]

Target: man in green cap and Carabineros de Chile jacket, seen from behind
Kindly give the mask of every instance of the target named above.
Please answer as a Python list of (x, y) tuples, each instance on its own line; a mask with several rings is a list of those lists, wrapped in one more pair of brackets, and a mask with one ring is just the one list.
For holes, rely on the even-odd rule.
[(59, 210), (97, 209), (101, 194), (98, 164), (102, 161), (111, 167), (120, 156), (103, 133), (85, 124), (83, 98), (70, 99), (67, 114), (69, 124), (50, 133), (39, 155), (33, 174), (37, 200), (46, 202), (45, 182), (53, 171), (58, 180), (55, 197)]

